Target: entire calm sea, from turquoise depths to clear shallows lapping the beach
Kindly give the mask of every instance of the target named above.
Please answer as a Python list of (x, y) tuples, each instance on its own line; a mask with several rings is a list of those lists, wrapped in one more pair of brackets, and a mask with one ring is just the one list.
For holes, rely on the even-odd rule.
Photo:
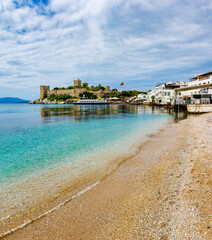
[(0, 104), (0, 236), (89, 190), (177, 119), (150, 106)]

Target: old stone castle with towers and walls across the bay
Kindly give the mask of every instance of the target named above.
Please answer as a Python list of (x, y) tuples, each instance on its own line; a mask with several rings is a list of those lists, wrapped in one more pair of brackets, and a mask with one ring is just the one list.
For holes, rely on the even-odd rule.
[(55, 95), (62, 95), (62, 94), (68, 94), (72, 97), (79, 97), (80, 93), (83, 93), (85, 91), (91, 92), (95, 94), (98, 98), (102, 97), (106, 92), (110, 91), (110, 86), (105, 86), (104, 90), (101, 89), (99, 91), (92, 90), (91, 88), (88, 88), (88, 83), (84, 82), (78, 78), (77, 80), (74, 80), (74, 85), (70, 86), (68, 88), (54, 88), (53, 90), (50, 90), (50, 86), (40, 86), (40, 99), (43, 100), (47, 97), (49, 97), (51, 94)]

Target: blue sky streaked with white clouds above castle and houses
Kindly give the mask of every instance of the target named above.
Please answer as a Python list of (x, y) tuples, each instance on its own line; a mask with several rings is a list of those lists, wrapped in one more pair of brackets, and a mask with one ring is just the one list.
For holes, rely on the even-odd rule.
[(187, 81), (212, 71), (211, 29), (211, 0), (0, 0), (0, 97)]

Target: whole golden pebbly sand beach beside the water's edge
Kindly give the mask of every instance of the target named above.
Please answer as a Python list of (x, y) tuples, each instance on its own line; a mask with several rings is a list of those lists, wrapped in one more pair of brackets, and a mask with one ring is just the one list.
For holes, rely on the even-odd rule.
[(171, 124), (135, 157), (4, 239), (212, 239), (212, 113)]

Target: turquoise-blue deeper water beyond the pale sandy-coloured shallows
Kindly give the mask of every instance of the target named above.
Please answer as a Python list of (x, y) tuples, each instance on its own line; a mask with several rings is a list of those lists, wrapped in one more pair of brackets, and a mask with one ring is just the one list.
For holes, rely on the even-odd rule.
[(126, 106), (0, 105), (0, 182), (76, 161), (167, 119)]

